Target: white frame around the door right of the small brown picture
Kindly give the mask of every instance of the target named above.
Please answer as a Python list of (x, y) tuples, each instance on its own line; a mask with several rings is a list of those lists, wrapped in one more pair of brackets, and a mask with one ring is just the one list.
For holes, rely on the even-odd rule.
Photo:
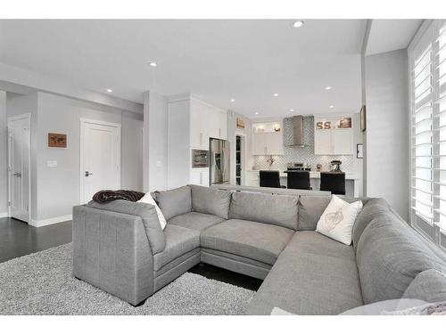
[(85, 202), (84, 200), (84, 126), (87, 124), (95, 124), (99, 126), (110, 126), (115, 127), (117, 129), (118, 133), (118, 143), (116, 147), (116, 157), (118, 159), (118, 172), (119, 172), (119, 184), (121, 181), (120, 177), (120, 146), (122, 145), (121, 142), (121, 124), (120, 123), (112, 123), (112, 122), (106, 122), (103, 120), (98, 119), (91, 119), (91, 118), (79, 118), (79, 125), (80, 125), (80, 135), (79, 135), (79, 178), (80, 178), (80, 193), (79, 193), (79, 203), (82, 204)]

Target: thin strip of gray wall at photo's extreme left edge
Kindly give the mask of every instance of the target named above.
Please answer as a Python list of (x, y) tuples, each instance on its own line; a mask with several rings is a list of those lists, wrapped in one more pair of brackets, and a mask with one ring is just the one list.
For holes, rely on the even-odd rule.
[(0, 91), (0, 217), (8, 211), (8, 147), (6, 122), (6, 93)]

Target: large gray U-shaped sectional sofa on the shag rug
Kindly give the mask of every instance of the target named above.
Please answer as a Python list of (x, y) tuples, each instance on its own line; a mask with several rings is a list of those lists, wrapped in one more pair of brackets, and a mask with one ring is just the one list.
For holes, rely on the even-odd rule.
[(75, 277), (138, 305), (194, 265), (218, 265), (264, 280), (247, 314), (276, 306), (341, 314), (387, 299), (446, 300), (444, 254), (382, 199), (363, 200), (346, 246), (315, 231), (329, 196), (196, 185), (154, 196), (168, 221), (164, 231), (149, 204), (73, 209)]

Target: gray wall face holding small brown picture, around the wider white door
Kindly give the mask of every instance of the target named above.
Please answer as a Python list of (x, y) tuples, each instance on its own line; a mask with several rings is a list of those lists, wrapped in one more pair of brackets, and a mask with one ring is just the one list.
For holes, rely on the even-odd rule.
[[(121, 188), (141, 190), (142, 115), (55, 94), (38, 93), (37, 217), (38, 221), (71, 214), (80, 203), (80, 123), (90, 118), (119, 123), (121, 128)], [(67, 148), (47, 147), (47, 134), (67, 134)], [(57, 160), (57, 167), (47, 167)], [(126, 175), (122, 178), (122, 175)], [(138, 183), (139, 186), (138, 186)], [(134, 189), (136, 187), (136, 189)], [(61, 192), (62, 191), (62, 192)]]

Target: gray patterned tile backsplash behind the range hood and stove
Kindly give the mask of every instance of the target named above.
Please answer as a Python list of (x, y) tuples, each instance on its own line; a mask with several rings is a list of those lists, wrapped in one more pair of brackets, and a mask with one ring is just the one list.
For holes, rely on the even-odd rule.
[[(307, 145), (305, 147), (292, 147), (286, 146), (293, 143), (293, 124), (292, 118), (284, 118), (284, 144), (285, 155), (274, 156), (276, 159), (273, 165), (269, 167), (267, 159), (268, 156), (254, 156), (253, 168), (254, 169), (272, 169), (272, 170), (286, 170), (286, 164), (288, 162), (302, 162), (304, 164), (309, 163), (311, 170), (316, 170), (316, 165), (321, 164), (322, 170), (329, 170), (329, 164), (331, 160), (341, 160), (343, 164), (341, 169), (345, 173), (355, 173), (361, 161), (356, 159), (355, 156), (322, 156), (314, 154), (314, 118), (312, 116), (306, 116), (303, 118), (303, 143)], [(359, 160), (359, 161), (358, 161)]]

